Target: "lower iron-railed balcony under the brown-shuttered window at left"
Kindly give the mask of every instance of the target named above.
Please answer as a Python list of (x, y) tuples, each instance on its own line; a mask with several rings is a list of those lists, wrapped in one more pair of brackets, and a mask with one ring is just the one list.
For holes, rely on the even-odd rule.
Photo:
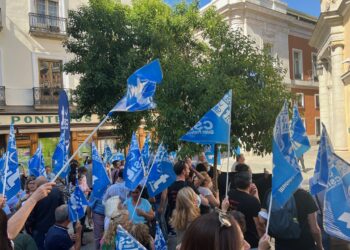
[(34, 108), (57, 109), (61, 90), (66, 91), (69, 104), (73, 105), (73, 96), (71, 89), (36, 87), (33, 88)]

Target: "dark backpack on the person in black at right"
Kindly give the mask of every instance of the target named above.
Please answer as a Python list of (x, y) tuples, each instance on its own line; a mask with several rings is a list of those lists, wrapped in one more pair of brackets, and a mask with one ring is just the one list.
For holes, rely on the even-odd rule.
[[(270, 205), (271, 193), (268, 195), (266, 203)], [(267, 208), (270, 209), (269, 207)], [(269, 235), (279, 239), (298, 239), (301, 228), (298, 221), (298, 210), (294, 195), (283, 207), (279, 207), (272, 202), (272, 210), (269, 224)]]

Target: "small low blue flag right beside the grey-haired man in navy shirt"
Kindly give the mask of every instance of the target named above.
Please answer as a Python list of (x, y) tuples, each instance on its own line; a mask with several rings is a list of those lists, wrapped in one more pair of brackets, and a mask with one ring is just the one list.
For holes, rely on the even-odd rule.
[(83, 191), (81, 191), (79, 186), (76, 186), (68, 200), (69, 220), (71, 222), (77, 222), (79, 219), (83, 218), (87, 205), (88, 202)]

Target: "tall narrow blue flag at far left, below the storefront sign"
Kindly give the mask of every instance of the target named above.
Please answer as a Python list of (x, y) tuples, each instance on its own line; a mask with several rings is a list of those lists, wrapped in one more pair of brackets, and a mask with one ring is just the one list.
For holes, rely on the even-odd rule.
[(7, 200), (10, 200), (14, 197), (21, 189), (21, 181), (19, 178), (18, 171), (18, 156), (16, 148), (16, 138), (15, 138), (15, 129), (13, 124), (10, 126), (10, 135), (7, 144), (7, 152), (5, 155), (6, 158), (3, 158), (3, 169), (0, 175), (3, 174), (1, 178), (1, 192), (3, 190), (4, 179), (6, 176), (6, 186), (5, 186), (5, 195)]

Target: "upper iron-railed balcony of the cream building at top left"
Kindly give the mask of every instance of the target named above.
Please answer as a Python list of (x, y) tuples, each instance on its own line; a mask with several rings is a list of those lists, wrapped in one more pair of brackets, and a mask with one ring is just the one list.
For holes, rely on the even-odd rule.
[(67, 18), (29, 13), (29, 27), (33, 36), (63, 39), (67, 35)]

